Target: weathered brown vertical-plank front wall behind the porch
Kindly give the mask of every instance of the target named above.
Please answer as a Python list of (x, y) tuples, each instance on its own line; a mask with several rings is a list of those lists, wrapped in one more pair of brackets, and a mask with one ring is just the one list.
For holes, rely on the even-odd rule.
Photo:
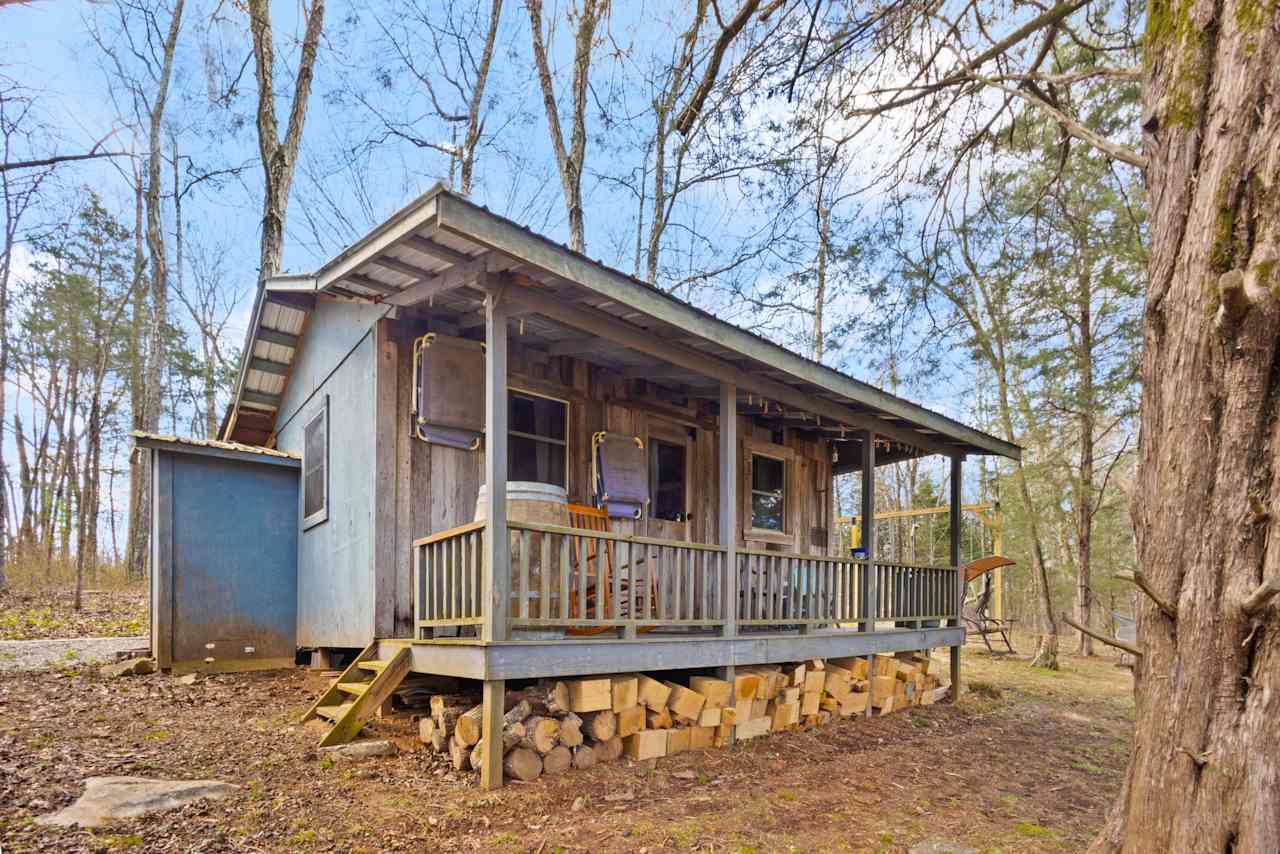
[[(394, 561), (397, 579), (396, 625), (407, 632), (411, 618), (410, 543), (419, 536), (438, 533), (471, 521), (476, 493), (480, 488), (480, 452), (457, 451), (426, 444), (412, 438), (412, 341), (428, 330), (428, 324), (401, 321), (388, 325), (387, 376), (394, 375), (396, 453), (387, 465), (397, 472), (394, 478), (397, 498), (393, 502), (394, 528), (388, 526), (384, 542), (389, 561)], [(513, 388), (568, 401), (568, 494), (570, 501), (590, 503), (591, 498), (591, 435), (609, 430), (639, 435), (648, 447), (652, 433), (669, 433), (672, 426), (690, 431), (692, 458), (689, 461), (689, 539), (699, 543), (717, 543), (718, 535), (718, 479), (719, 467), (717, 417), (708, 401), (671, 399), (657, 387), (628, 380), (616, 371), (590, 365), (567, 356), (548, 357), (545, 353), (520, 347), (513, 337), (509, 360), (509, 384)], [(744, 480), (753, 444), (768, 451), (772, 433), (750, 416), (739, 417), (739, 493), (750, 495), (750, 481)], [(787, 536), (768, 540), (739, 536), (746, 548), (788, 551), (800, 553), (833, 553), (836, 542), (827, 533), (831, 529), (831, 443), (803, 438), (787, 430), (782, 446), (787, 465)], [(399, 485), (407, 484), (401, 490)], [(745, 516), (740, 511), (740, 517)], [(650, 529), (648, 520), (614, 520), (620, 533), (637, 533), (664, 536)], [(403, 597), (403, 598), (402, 598)]]

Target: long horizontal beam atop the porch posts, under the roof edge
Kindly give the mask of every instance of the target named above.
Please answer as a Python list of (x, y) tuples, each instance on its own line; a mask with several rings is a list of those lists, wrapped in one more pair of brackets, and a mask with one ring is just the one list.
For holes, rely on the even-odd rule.
[(893, 426), (872, 415), (854, 412), (852, 410), (838, 406), (831, 401), (808, 396), (791, 388), (790, 385), (768, 379), (767, 376), (748, 373), (731, 362), (699, 352), (692, 347), (664, 341), (646, 329), (640, 329), (639, 326), (623, 323), (611, 315), (581, 309), (568, 301), (558, 300), (553, 296), (538, 293), (530, 288), (522, 288), (511, 283), (507, 283), (503, 296), (511, 302), (522, 305), (526, 309), (536, 311), (538, 314), (545, 315), (553, 320), (558, 320), (559, 323), (608, 338), (609, 341), (622, 344), (623, 347), (653, 356), (654, 359), (660, 359), (672, 365), (687, 365), (691, 370), (695, 370), (705, 376), (722, 383), (733, 384), (739, 389), (748, 389), (755, 392), (756, 394), (763, 394), (764, 397), (777, 401), (778, 403), (785, 403), (786, 406), (795, 407), (797, 410), (805, 410), (815, 415), (822, 415), (823, 417), (846, 424), (850, 428), (874, 430), (886, 438), (896, 439), (919, 448), (925, 448), (934, 453), (950, 455), (955, 451), (955, 448), (910, 430)]

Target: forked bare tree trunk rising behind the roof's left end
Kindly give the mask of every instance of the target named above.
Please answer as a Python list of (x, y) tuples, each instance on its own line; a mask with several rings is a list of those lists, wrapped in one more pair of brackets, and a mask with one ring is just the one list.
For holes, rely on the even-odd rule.
[(253, 37), (253, 60), (257, 76), (257, 147), (262, 157), (262, 245), (259, 277), (265, 279), (280, 269), (284, 252), (284, 219), (289, 206), (289, 187), (298, 160), (298, 143), (307, 118), (307, 100), (315, 76), (316, 51), (324, 28), (324, 0), (312, 0), (306, 10), (306, 32), (298, 72), (293, 81), (293, 104), (289, 123), (280, 138), (275, 118), (275, 45), (271, 35), (271, 10), (268, 0), (248, 0), (250, 33)]

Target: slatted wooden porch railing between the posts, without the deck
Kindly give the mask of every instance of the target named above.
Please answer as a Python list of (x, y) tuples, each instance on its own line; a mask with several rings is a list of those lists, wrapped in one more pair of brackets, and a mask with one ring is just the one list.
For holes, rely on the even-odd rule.
[[(887, 563), (739, 549), (732, 576), (719, 545), (508, 521), (508, 625), (634, 636), (657, 627), (722, 627), (728, 593), (737, 625), (911, 625), (957, 621), (960, 572), (954, 567)], [(484, 522), (413, 543), (415, 625), (483, 622)]]

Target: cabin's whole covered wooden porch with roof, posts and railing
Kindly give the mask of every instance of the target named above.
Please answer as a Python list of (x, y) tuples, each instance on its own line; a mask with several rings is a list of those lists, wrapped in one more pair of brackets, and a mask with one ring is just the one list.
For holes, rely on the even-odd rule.
[[(375, 466), (378, 481), (394, 489), (379, 492), (375, 521), (394, 521), (376, 534), (375, 553), (388, 566), (406, 561), (411, 615), (397, 613), (393, 631), (379, 629), (369, 654), (481, 680), (486, 739), (500, 731), (507, 680), (662, 670), (731, 677), (748, 665), (948, 647), (959, 684), (963, 462), (1016, 457), (1015, 446), (797, 356), (443, 188), (315, 275), (266, 288), (268, 298), (305, 291), (384, 310), (376, 348), (393, 367), (380, 366), (376, 379)], [(404, 342), (416, 374), (419, 342), (429, 335), (483, 352), (466, 362), (475, 373), (457, 371), (483, 419), (471, 426), (442, 419), (426, 430), (440, 456), (422, 478), (431, 484), (424, 522), (412, 489), (402, 489), (417, 479), (412, 453), (424, 435), (404, 438), (402, 421)], [(426, 394), (415, 382), (420, 424)], [(548, 419), (562, 426), (529, 426), (525, 410), (538, 401), (563, 405)], [(630, 516), (612, 512), (596, 476), (594, 438), (605, 433), (634, 438), (650, 455), (650, 489), (643, 499), (628, 495)], [(675, 448), (678, 463), (659, 448)], [(878, 561), (877, 467), (928, 455), (950, 467), (950, 560)], [(438, 492), (445, 470), (461, 474)], [(836, 530), (840, 475), (860, 480), (865, 556), (854, 556)], [(508, 484), (527, 480), (562, 484), (570, 524), (508, 515)], [(485, 782), (500, 776), (486, 759)]]

